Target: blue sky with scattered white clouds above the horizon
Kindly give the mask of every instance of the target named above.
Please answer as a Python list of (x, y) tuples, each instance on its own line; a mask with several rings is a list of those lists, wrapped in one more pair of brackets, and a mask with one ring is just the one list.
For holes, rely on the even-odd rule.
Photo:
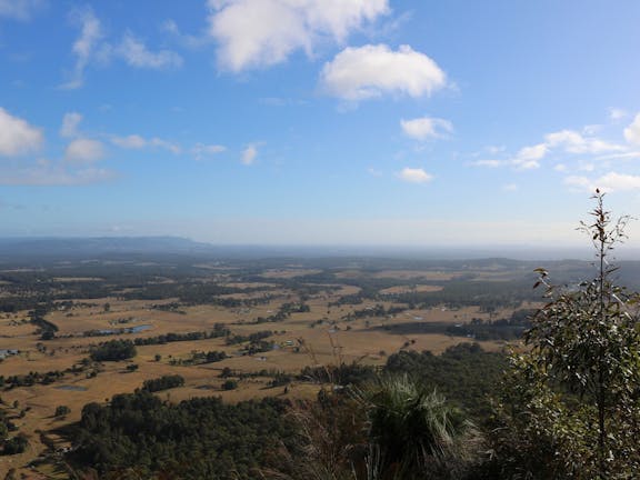
[(640, 217), (639, 24), (637, 0), (0, 0), (0, 237), (584, 244), (596, 188)]

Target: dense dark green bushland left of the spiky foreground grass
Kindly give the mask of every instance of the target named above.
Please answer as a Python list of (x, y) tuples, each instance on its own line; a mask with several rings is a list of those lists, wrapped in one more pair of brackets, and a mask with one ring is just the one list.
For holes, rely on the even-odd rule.
[[(72, 459), (100, 478), (250, 479), (292, 438), (287, 404), (276, 399), (226, 404), (202, 398), (171, 404), (148, 391), (89, 403), (71, 433)], [(118, 477), (121, 474), (122, 477)]]

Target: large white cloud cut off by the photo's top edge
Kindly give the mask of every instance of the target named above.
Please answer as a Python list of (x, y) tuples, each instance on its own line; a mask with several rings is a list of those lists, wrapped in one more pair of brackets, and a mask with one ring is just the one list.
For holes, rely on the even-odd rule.
[(322, 40), (342, 42), (352, 30), (389, 12), (388, 0), (209, 0), (209, 34), (218, 64), (239, 72), (310, 54)]

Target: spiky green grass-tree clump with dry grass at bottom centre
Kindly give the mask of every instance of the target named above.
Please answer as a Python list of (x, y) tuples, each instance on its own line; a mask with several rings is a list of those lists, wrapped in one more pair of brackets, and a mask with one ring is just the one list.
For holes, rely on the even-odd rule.
[(469, 478), (482, 440), (462, 411), (408, 376), (382, 376), (344, 394), (298, 404), (297, 456), (280, 479)]

